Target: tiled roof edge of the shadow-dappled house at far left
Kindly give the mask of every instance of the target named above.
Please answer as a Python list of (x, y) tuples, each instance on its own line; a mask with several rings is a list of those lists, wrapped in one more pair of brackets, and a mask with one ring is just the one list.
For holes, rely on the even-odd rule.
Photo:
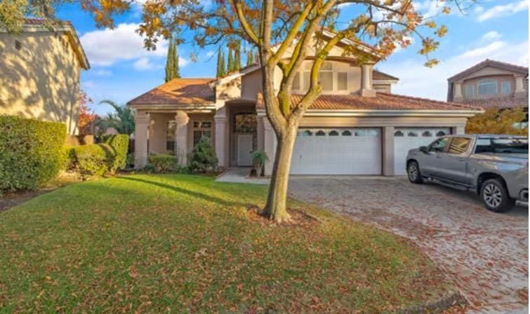
[[(2, 30), (0, 29), (0, 32)], [(22, 26), (22, 32), (65, 32), (68, 36), (68, 40), (74, 49), (74, 53), (79, 60), (79, 64), (83, 69), (90, 69), (90, 63), (86, 57), (81, 41), (77, 36), (77, 32), (71, 22), (66, 20), (57, 20), (55, 24), (51, 25), (51, 29), (48, 28), (46, 22), (40, 18), (25, 18), (24, 25)]]

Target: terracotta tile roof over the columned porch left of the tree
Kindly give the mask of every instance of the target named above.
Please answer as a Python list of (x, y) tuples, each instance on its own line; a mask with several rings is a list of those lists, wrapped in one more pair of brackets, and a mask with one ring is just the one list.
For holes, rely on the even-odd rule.
[(127, 104), (208, 104), (216, 101), (208, 85), (214, 78), (175, 78)]

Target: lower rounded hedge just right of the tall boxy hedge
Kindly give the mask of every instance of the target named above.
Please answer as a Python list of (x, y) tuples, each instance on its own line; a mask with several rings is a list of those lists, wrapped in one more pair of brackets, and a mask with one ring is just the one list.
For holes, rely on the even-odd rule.
[(102, 143), (70, 147), (68, 168), (81, 175), (105, 175), (126, 167), (128, 135), (110, 135)]

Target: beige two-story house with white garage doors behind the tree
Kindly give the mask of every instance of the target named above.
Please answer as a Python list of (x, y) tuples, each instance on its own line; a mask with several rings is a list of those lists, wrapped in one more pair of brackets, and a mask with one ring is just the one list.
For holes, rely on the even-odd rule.
[[(324, 32), (326, 34), (326, 32)], [(332, 36), (328, 34), (327, 36)], [(345, 57), (352, 46), (366, 57)], [(308, 88), (311, 55), (293, 83), (293, 101)], [(479, 109), (392, 94), (398, 78), (373, 69), (377, 50), (343, 40), (320, 71), (323, 93), (300, 123), (293, 175), (404, 175), (406, 152), (437, 136), (463, 133)], [(406, 69), (404, 69), (406, 71)], [(279, 86), (281, 71), (274, 77)], [(135, 166), (148, 153), (175, 149), (181, 161), (201, 137), (209, 137), (222, 167), (251, 165), (251, 151), (274, 161), (276, 137), (265, 114), (257, 64), (223, 78), (177, 78), (128, 102), (137, 110)]]

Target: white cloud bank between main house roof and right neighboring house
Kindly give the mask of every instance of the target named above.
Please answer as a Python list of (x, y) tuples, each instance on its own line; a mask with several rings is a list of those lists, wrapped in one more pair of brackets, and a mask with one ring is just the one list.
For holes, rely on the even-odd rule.
[(392, 87), (392, 93), (446, 100), (447, 78), (485, 59), (527, 67), (528, 58), (528, 41), (519, 43), (493, 41), (442, 60), (432, 69), (423, 67), (425, 60), (420, 56), (404, 62), (379, 64), (378, 67), (385, 73), (399, 77), (399, 83)]

